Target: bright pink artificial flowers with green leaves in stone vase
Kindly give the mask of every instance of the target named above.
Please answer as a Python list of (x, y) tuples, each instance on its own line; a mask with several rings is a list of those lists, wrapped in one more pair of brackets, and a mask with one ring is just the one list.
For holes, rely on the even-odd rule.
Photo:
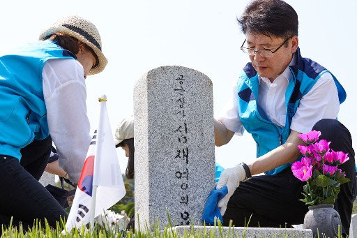
[(291, 165), (294, 176), (306, 181), (302, 193), (305, 198), (300, 201), (310, 206), (334, 204), (340, 193), (340, 185), (349, 181), (338, 168), (338, 165), (349, 160), (348, 154), (330, 149), (330, 142), (319, 141), (320, 135), (320, 131), (298, 135), (307, 145), (298, 146), (304, 157)]

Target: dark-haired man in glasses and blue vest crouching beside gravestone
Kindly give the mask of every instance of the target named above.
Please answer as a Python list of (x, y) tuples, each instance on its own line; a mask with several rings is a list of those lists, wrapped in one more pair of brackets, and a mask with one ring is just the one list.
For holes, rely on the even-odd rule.
[[(331, 149), (349, 153), (340, 168), (351, 179), (335, 203), (342, 232), (349, 233), (356, 181), (351, 135), (336, 120), (346, 98), (341, 84), (326, 68), (301, 57), (298, 15), (280, 0), (256, 0), (238, 20), (248, 63), (234, 85), (233, 96), (215, 119), (215, 144), (227, 144), (234, 133), (248, 131), (257, 142), (257, 159), (222, 172), (217, 188), (227, 185), (220, 200), (224, 223), (236, 226), (289, 227), (303, 223), (307, 205), (299, 201), (305, 183), (291, 172), (301, 156), (300, 133), (321, 131)], [(322, 119), (322, 120), (321, 120)], [(237, 153), (238, 154), (238, 153)], [(264, 172), (265, 175), (254, 174)], [(247, 180), (249, 179), (249, 180)]]

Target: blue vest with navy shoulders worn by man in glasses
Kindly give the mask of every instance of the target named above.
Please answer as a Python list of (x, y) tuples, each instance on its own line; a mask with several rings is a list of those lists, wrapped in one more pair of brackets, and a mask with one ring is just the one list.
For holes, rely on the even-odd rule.
[[(291, 120), (298, 108), (301, 98), (307, 94), (323, 73), (329, 72), (311, 59), (303, 58), (300, 49), (297, 50), (296, 65), (289, 66), (292, 77), (285, 92), (285, 107), (287, 117), (284, 128), (264, 117), (257, 107), (259, 79), (257, 71), (248, 63), (238, 78), (238, 110), (241, 123), (248, 133), (252, 134), (257, 143), (257, 157), (263, 156), (287, 141), (290, 134)], [(338, 91), (340, 103), (346, 99), (346, 91), (333, 76)], [(266, 174), (278, 174), (291, 163), (282, 165)]]

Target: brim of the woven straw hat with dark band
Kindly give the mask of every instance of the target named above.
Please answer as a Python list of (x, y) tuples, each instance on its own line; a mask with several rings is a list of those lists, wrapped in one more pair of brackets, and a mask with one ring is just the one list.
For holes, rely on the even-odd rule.
[(100, 72), (102, 72), (102, 70), (104, 70), (105, 66), (107, 66), (107, 64), (108, 64), (107, 58), (104, 56), (102, 51), (99, 50), (98, 47), (96, 47), (96, 45), (91, 43), (91, 41), (89, 41), (87, 38), (85, 38), (81, 34), (75, 32), (75, 31), (72, 31), (72, 30), (68, 29), (67, 27), (63, 27), (63, 26), (50, 27), (40, 34), (39, 39), (45, 40), (46, 38), (48, 38), (49, 36), (52, 36), (53, 34), (56, 34), (57, 32), (62, 33), (62, 34), (67, 34), (69, 36), (73, 36), (74, 38), (82, 41), (84, 44), (91, 47), (91, 49), (94, 51), (94, 53), (96, 53), (99, 62), (96, 67), (91, 68), (91, 70), (89, 70), (88, 75), (95, 75), (97, 73), (100, 73)]

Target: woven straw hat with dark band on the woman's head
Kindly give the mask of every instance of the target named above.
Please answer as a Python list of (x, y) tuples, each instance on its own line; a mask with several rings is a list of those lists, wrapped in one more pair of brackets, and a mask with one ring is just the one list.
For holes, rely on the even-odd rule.
[(45, 40), (56, 32), (68, 34), (69, 36), (81, 40), (83, 43), (91, 47), (97, 54), (99, 64), (89, 70), (89, 75), (94, 75), (104, 70), (108, 61), (102, 53), (102, 40), (100, 39), (98, 29), (92, 22), (76, 15), (63, 17), (57, 20), (51, 27), (43, 31), (40, 34), (39, 39)]

